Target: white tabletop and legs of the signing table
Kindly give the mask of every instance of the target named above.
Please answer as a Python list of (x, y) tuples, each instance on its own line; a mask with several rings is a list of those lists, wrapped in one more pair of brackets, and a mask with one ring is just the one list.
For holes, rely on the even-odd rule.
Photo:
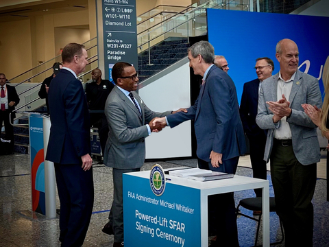
[[(169, 169), (170, 170), (170, 169)], [(129, 176), (149, 179), (149, 171), (127, 173)], [(246, 189), (263, 189), (263, 246), (269, 246), (269, 181), (235, 175), (234, 178), (212, 181), (196, 181), (166, 175), (167, 184), (180, 185), (200, 191), (201, 243), (208, 246), (208, 196), (242, 191)]]

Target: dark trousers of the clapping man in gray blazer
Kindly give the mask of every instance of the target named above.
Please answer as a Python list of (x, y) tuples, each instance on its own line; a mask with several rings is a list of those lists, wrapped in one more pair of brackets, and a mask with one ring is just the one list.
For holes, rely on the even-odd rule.
[(302, 165), (292, 145), (274, 143), (271, 178), (276, 213), (284, 227), (285, 246), (313, 246), (313, 204), (317, 164)]

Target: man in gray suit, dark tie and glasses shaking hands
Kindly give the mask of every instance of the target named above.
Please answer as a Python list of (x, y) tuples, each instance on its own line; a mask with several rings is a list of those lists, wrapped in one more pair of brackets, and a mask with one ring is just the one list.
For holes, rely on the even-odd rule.
[(160, 124), (153, 126), (154, 118), (175, 112), (156, 113), (147, 108), (134, 92), (138, 88), (138, 74), (132, 64), (114, 64), (112, 78), (116, 86), (108, 95), (104, 109), (110, 130), (104, 164), (113, 168), (114, 199), (110, 221), (104, 226), (103, 232), (114, 234), (113, 246), (123, 246), (122, 174), (138, 172), (144, 164), (145, 137), (162, 129)]

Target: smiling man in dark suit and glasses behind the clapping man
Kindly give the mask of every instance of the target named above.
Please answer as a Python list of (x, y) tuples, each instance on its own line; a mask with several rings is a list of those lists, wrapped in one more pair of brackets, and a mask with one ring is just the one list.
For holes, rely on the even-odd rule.
[[(250, 161), (252, 162), (252, 173), (254, 178), (266, 179), (267, 169), (264, 161), (264, 151), (266, 144), (265, 131), (256, 124), (258, 108), (258, 92), (263, 80), (272, 76), (274, 63), (270, 58), (256, 59), (256, 74), (258, 79), (246, 82), (243, 85), (243, 93), (240, 104), (240, 117), (243, 130), (249, 139)], [(262, 196), (262, 189), (254, 189), (256, 197)], [(254, 215), (260, 214), (254, 211)]]

